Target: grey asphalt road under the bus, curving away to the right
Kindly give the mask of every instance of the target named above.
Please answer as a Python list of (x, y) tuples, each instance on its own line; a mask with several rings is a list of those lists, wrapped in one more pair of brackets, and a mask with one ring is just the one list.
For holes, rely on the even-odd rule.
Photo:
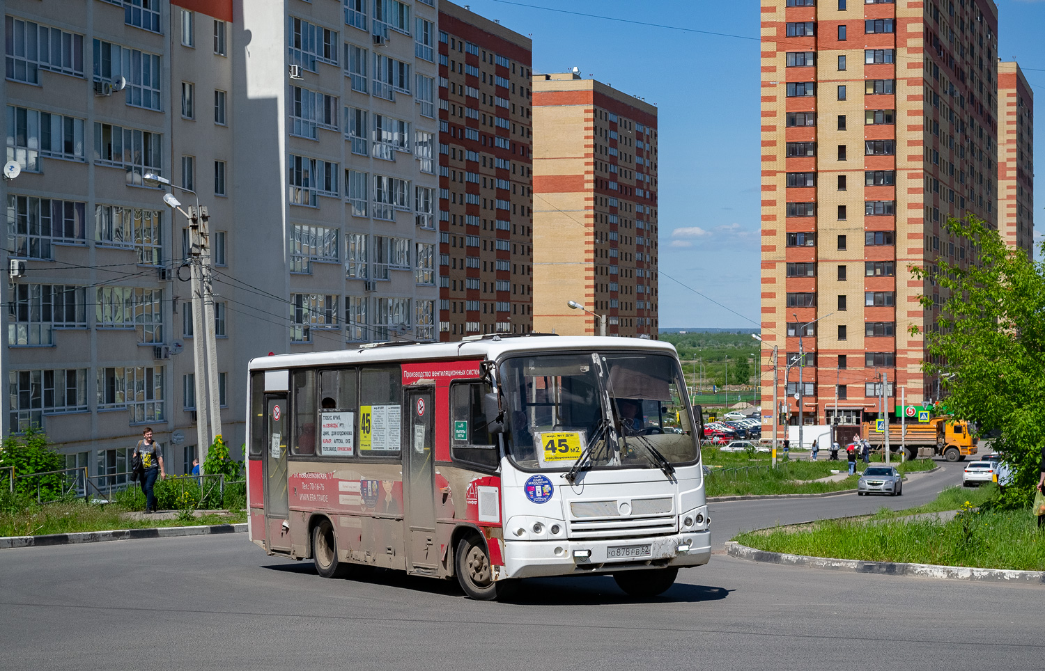
[[(956, 473), (911, 481), (900, 500), (717, 504), (713, 523), (724, 541), (776, 518), (912, 504)], [(1037, 670), (1042, 594), (716, 554), (645, 602), (588, 577), (532, 580), (515, 602), (483, 603), (389, 572), (324, 580), (245, 534), (190, 536), (0, 551), (0, 654), (5, 669), (107, 671)]]

